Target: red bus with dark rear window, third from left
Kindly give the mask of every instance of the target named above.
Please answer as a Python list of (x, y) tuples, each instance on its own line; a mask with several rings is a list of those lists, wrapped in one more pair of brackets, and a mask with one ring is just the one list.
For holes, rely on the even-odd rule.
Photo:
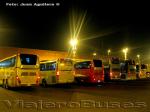
[(76, 82), (104, 82), (104, 66), (102, 65), (102, 60), (76, 60), (74, 68)]

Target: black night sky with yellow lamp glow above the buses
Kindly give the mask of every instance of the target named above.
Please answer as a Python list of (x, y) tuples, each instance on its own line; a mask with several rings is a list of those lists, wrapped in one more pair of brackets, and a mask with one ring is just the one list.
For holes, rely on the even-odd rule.
[[(150, 55), (150, 7), (144, 2), (101, 0), (7, 0), (60, 3), (50, 7), (9, 7), (0, 0), (0, 46), (68, 51), (70, 18), (85, 15), (78, 52)], [(77, 22), (76, 22), (77, 24)], [(143, 59), (144, 59), (143, 58)]]

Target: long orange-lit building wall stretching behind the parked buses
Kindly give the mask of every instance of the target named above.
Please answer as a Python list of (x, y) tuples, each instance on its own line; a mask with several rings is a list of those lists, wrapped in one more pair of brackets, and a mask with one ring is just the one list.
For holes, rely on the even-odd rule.
[[(0, 47), (0, 60), (6, 57), (12, 56), (17, 53), (29, 53), (36, 54), (41, 60), (52, 60), (58, 58), (70, 58), (68, 52), (66, 51), (50, 51), (50, 50), (40, 50), (40, 49), (29, 49), (29, 48), (16, 48), (16, 47)], [(78, 59), (104, 59), (108, 60), (108, 55), (96, 55), (93, 56), (91, 53), (80, 53), (77, 54), (75, 58)]]

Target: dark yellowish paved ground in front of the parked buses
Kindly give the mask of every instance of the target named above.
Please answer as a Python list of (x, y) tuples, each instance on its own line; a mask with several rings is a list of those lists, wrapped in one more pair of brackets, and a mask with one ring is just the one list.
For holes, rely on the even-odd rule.
[(150, 80), (7, 90), (1, 112), (150, 112)]

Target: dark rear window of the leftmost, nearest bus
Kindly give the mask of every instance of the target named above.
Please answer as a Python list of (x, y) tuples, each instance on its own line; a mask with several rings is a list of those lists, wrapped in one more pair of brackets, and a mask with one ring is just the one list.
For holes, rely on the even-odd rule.
[(32, 54), (20, 54), (22, 65), (36, 65), (37, 56)]

